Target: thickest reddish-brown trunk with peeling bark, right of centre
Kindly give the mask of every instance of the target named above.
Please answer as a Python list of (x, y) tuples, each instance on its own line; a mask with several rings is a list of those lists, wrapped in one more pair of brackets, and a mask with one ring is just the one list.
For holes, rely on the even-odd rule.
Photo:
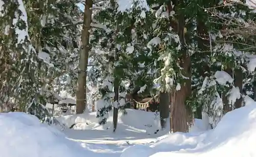
[[(173, 0), (176, 7), (179, 6), (179, 3), (183, 1)], [(174, 7), (174, 10), (176, 10)], [(186, 43), (184, 38), (184, 28), (185, 28), (185, 18), (184, 14), (180, 13), (178, 15), (178, 35), (180, 37), (180, 42), (182, 44), (182, 56), (180, 57), (180, 66), (182, 69), (182, 75), (187, 77), (183, 79), (180, 90), (173, 88), (172, 92), (172, 106), (170, 112), (170, 124), (171, 132), (188, 132), (189, 124), (192, 122), (190, 119), (190, 111), (186, 106), (186, 99), (191, 95), (191, 70), (190, 70), (190, 56), (186, 49)]]

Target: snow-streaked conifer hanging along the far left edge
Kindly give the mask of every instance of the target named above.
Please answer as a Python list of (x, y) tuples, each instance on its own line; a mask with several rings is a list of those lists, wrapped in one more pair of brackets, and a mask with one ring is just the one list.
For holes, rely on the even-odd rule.
[[(1, 82), (6, 91), (4, 101), (13, 101), (19, 111), (29, 111), (32, 104), (42, 107), (40, 69), (36, 50), (29, 36), (28, 16), (22, 1), (0, 1), (1, 4)], [(2, 91), (1, 91), (2, 92)], [(39, 116), (39, 115), (38, 115)]]

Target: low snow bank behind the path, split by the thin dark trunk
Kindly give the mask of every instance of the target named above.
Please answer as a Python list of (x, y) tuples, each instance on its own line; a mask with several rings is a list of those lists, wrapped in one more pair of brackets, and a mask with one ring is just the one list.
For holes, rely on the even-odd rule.
[[(154, 134), (157, 129), (160, 129), (159, 115), (153, 112), (145, 112), (140, 110), (126, 109), (127, 114), (118, 114), (118, 127), (120, 130), (130, 129), (130, 131)], [(56, 118), (67, 127), (74, 125), (74, 129), (106, 129), (112, 126), (113, 113), (110, 113), (109, 118), (104, 126), (98, 124), (96, 112), (84, 113), (78, 115), (68, 115)], [(167, 122), (167, 128), (169, 122)]]

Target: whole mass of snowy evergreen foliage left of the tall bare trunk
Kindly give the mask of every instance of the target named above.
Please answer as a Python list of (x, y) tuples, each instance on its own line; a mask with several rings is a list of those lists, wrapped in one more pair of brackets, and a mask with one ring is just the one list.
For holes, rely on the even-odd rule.
[(7, 1), (1, 8), (1, 100), (43, 120), (56, 83), (74, 73), (80, 10), (74, 1)]

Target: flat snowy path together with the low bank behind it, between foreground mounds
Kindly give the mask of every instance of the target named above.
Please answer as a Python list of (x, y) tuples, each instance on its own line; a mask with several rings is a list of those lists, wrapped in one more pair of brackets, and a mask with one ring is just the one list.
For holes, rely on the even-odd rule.
[[(67, 127), (76, 123), (74, 129), (66, 128), (62, 133), (68, 139), (80, 143), (85, 149), (95, 152), (96, 156), (105, 153), (107, 156), (104, 157), (108, 155), (119, 157), (128, 147), (153, 144), (168, 134), (168, 130), (160, 130), (154, 134), (159, 128), (157, 123), (159, 120), (155, 119), (154, 113), (134, 110), (127, 110), (127, 112), (129, 112), (127, 115), (119, 114), (116, 133), (111, 129), (111, 115), (104, 126), (98, 124), (96, 113), (68, 115), (59, 117), (58, 120)], [(139, 119), (138, 115), (141, 116)]]

